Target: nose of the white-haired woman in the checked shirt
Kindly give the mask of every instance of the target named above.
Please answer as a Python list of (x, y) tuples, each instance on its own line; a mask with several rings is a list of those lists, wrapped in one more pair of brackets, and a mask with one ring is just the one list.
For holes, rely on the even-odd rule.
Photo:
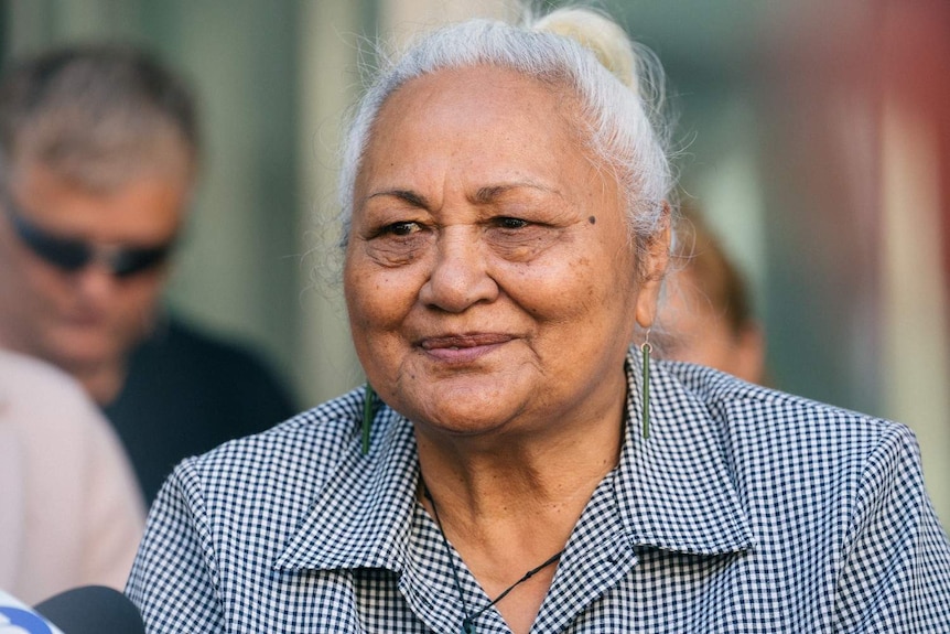
[(489, 275), (487, 264), (477, 227), (444, 227), (438, 238), (432, 271), (419, 299), (425, 305), (452, 313), (494, 301), (498, 297), (498, 284)]

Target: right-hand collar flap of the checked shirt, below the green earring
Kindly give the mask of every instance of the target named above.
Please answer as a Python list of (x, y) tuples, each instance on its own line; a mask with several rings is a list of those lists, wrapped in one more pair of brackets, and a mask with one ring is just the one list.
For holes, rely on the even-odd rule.
[(752, 548), (755, 539), (726, 456), (727, 429), (677, 378), (682, 364), (654, 362), (649, 438), (644, 438), (640, 367), (639, 351), (631, 351), (628, 425), (617, 470), (628, 535), (636, 545), (699, 555)]

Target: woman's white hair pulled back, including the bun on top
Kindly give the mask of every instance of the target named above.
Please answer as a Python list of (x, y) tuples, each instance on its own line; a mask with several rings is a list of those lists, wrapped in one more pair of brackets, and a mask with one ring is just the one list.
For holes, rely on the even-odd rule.
[(378, 74), (357, 104), (342, 147), (343, 245), (349, 238), (356, 178), (382, 105), (410, 79), (477, 65), (569, 89), (580, 105), (581, 138), (620, 187), (636, 248), (644, 249), (668, 226), (663, 207), (673, 176), (659, 63), (608, 18), (572, 8), (529, 18), (520, 26), (471, 20), (439, 29)]

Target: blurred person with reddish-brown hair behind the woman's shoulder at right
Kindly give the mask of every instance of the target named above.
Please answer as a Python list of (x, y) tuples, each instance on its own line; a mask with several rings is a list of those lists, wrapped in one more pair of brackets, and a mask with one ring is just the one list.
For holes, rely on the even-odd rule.
[(745, 279), (698, 209), (677, 226), (658, 316), (659, 355), (765, 383), (765, 337)]

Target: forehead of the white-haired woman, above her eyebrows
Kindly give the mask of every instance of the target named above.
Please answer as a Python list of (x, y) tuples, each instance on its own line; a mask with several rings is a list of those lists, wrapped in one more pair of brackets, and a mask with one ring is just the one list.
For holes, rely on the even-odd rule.
[(381, 106), (360, 160), (355, 202), (380, 172), (413, 181), (451, 162), (475, 181), (507, 182), (538, 170), (559, 173), (579, 160), (591, 162), (570, 95), (505, 68), (447, 68), (404, 83)]

